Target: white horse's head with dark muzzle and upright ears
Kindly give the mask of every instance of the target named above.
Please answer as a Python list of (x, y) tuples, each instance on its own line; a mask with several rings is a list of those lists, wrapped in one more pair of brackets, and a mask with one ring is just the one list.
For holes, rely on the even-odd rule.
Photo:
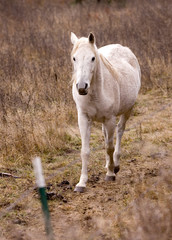
[(74, 84), (80, 95), (87, 95), (96, 67), (95, 37), (90, 33), (88, 38), (78, 39), (71, 33), (71, 42), (74, 45), (71, 54)]

